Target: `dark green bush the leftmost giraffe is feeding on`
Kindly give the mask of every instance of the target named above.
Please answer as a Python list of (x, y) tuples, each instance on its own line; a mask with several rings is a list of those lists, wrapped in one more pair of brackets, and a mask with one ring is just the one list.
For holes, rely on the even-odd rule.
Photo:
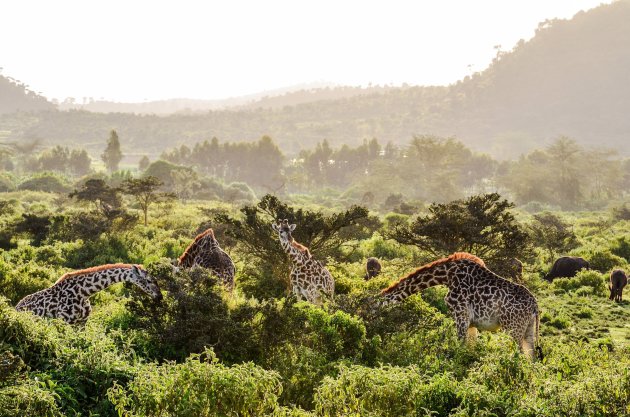
[(171, 273), (166, 259), (147, 266), (159, 277), (168, 295), (159, 304), (143, 298), (129, 302), (136, 317), (132, 327), (141, 329), (154, 341), (155, 355), (182, 360), (191, 353), (213, 346), (221, 359), (240, 362), (256, 356), (253, 328), (246, 318), (254, 314), (247, 306), (230, 310), (222, 298), (216, 277), (196, 267)]

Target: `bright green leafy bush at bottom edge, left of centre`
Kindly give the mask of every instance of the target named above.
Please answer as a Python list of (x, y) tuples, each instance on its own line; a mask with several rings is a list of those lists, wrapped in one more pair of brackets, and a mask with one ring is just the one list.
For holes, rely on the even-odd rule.
[(210, 350), (184, 363), (148, 364), (109, 398), (122, 415), (215, 417), (262, 416), (278, 407), (278, 374), (253, 363), (227, 367)]

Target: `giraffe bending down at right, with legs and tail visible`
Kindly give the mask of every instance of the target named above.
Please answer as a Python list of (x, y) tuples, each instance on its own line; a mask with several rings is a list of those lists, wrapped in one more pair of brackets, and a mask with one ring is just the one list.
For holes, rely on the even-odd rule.
[(519, 350), (534, 358), (540, 315), (534, 295), (520, 284), (499, 277), (478, 257), (457, 252), (424, 265), (384, 289), (381, 304), (401, 301), (435, 285), (446, 285), (444, 298), (460, 340), (474, 340), (477, 330), (502, 328)]

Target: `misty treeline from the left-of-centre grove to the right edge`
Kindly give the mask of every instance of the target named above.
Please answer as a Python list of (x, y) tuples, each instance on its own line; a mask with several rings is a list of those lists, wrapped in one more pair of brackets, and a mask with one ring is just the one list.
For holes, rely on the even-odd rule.
[[(350, 200), (385, 209), (416, 201), (450, 201), (499, 191), (519, 204), (596, 208), (630, 191), (630, 160), (588, 149), (567, 137), (546, 148), (499, 162), (453, 138), (416, 136), (406, 146), (377, 139), (332, 148), (328, 141), (283, 158), (269, 137), (229, 144), (218, 139), (162, 154), (222, 181), (244, 181), (266, 191), (319, 193), (328, 188)], [(273, 185), (272, 185), (273, 184)]]

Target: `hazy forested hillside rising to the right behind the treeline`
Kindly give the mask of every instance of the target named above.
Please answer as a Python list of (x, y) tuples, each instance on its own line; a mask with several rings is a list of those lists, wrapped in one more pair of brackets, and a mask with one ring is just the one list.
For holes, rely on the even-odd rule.
[(405, 144), (414, 134), (428, 133), (456, 136), (499, 157), (514, 157), (559, 135), (628, 154), (622, 145), (630, 132), (629, 21), (630, 0), (623, 0), (571, 20), (545, 22), (532, 40), (499, 51), (488, 69), (449, 87), (390, 88), (286, 106), (262, 101), (257, 108), (167, 117), (5, 115), (0, 130), (15, 138), (82, 145), (104, 141), (115, 128), (126, 146), (156, 153), (212, 136), (230, 141), (269, 135), (294, 154), (322, 139), (333, 146), (372, 137)]

